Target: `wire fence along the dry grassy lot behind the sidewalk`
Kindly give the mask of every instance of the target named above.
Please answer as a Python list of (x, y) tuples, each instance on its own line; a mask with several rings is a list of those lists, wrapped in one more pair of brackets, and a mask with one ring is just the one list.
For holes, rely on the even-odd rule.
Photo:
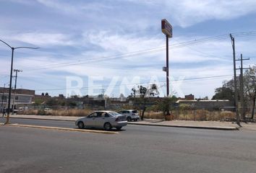
[[(118, 111), (119, 109), (110, 109)], [(64, 107), (64, 106), (30, 106), (19, 107), (17, 114), (26, 115), (63, 115), (63, 116), (85, 116), (93, 110), (104, 110), (104, 107)], [(255, 110), (256, 112), (256, 110)], [(252, 115), (252, 107), (245, 107), (245, 115), (249, 119)], [(140, 112), (141, 115), (141, 112)], [(205, 107), (193, 107), (184, 109), (174, 107), (171, 110), (174, 120), (194, 121), (235, 121), (235, 107), (218, 107), (216, 109), (205, 109)], [(239, 115), (242, 115), (242, 107), (239, 107)], [(146, 110), (145, 118), (165, 119), (163, 112)]]

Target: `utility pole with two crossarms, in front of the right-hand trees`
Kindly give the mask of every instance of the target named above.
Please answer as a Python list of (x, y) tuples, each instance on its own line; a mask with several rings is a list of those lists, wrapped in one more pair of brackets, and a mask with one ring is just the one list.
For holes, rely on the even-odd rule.
[(243, 59), (243, 55), (241, 54), (241, 58), (236, 60), (236, 61), (240, 61), (241, 63), (241, 67), (237, 68), (237, 70), (240, 70), (240, 102), (241, 102), (241, 107), (242, 107), (242, 118), (244, 121), (246, 121), (246, 117), (245, 117), (245, 110), (244, 110), (244, 69), (249, 69), (249, 68), (243, 68), (243, 61), (245, 60), (249, 60), (249, 58)]

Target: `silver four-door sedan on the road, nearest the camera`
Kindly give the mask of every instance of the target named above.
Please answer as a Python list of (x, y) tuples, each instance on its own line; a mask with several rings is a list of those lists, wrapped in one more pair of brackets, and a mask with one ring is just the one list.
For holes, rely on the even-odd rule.
[(86, 117), (76, 120), (75, 125), (78, 128), (103, 128), (104, 130), (111, 130), (116, 128), (120, 130), (127, 125), (127, 119), (124, 115), (113, 111), (95, 111)]

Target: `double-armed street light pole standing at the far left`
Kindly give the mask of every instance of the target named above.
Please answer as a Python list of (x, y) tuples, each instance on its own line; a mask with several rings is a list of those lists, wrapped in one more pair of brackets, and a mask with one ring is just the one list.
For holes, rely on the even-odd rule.
[(7, 45), (9, 48), (12, 49), (12, 63), (11, 63), (11, 73), (10, 73), (10, 81), (9, 81), (9, 96), (8, 96), (8, 110), (7, 110), (7, 120), (5, 122), (5, 124), (9, 124), (9, 115), (10, 115), (10, 108), (11, 108), (11, 96), (12, 96), (12, 68), (13, 68), (13, 56), (14, 56), (14, 50), (18, 49), (18, 48), (27, 48), (27, 49), (38, 49), (38, 48), (31, 48), (31, 47), (12, 47), (9, 44), (7, 44), (6, 42), (4, 42), (3, 40), (0, 40), (2, 43), (4, 43), (5, 45)]

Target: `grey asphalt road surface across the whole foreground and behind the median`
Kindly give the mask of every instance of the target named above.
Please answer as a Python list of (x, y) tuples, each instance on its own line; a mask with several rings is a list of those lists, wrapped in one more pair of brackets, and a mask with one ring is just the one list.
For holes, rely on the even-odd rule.
[(0, 172), (256, 172), (256, 136), (249, 130), (128, 125), (110, 135), (0, 126), (0, 140)]

